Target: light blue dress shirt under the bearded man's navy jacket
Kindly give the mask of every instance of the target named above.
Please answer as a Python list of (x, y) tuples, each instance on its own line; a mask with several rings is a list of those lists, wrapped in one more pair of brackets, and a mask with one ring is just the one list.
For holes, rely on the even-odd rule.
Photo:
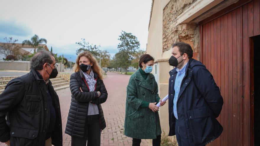
[[(189, 63), (189, 62), (188, 62)], [(173, 114), (174, 114), (174, 117), (176, 119), (178, 119), (178, 115), (177, 115), (177, 100), (178, 100), (178, 95), (179, 95), (179, 92), (180, 92), (180, 88), (181, 88), (181, 82), (182, 82), (182, 79), (184, 78), (185, 76), (185, 69), (186, 69), (186, 66), (187, 64), (186, 63), (183, 68), (179, 69), (177, 68), (176, 71), (177, 71), (177, 75), (176, 75), (176, 79), (175, 79), (175, 83), (174, 83), (174, 91), (175, 91), (175, 94), (174, 94), (174, 99), (173, 99)]]

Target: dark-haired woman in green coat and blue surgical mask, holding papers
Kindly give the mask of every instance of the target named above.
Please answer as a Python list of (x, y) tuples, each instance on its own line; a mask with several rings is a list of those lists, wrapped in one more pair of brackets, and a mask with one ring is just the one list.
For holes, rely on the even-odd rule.
[(139, 60), (139, 70), (130, 78), (127, 86), (125, 135), (133, 138), (133, 146), (139, 146), (141, 139), (153, 139), (153, 146), (160, 146), (161, 126), (156, 106), (160, 102), (158, 85), (151, 74), (154, 59), (144, 54)]

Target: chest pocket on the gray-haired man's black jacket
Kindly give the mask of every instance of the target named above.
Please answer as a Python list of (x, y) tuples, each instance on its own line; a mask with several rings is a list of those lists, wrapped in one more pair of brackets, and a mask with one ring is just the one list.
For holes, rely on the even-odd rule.
[(25, 96), (25, 111), (29, 114), (38, 114), (41, 109), (41, 95), (26, 94)]

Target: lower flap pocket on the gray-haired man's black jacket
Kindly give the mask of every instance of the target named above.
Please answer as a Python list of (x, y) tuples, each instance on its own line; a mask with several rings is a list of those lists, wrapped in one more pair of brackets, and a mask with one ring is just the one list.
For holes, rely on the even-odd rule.
[(34, 145), (34, 139), (38, 136), (39, 130), (12, 127), (10, 131), (10, 144), (19, 146)]

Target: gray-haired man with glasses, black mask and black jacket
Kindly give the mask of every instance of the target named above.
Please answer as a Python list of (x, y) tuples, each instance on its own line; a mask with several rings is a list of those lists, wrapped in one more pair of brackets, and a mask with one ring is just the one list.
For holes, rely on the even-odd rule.
[(0, 94), (0, 141), (6, 145), (62, 145), (61, 111), (50, 78), (58, 71), (51, 52), (39, 51), (30, 73), (15, 78)]

